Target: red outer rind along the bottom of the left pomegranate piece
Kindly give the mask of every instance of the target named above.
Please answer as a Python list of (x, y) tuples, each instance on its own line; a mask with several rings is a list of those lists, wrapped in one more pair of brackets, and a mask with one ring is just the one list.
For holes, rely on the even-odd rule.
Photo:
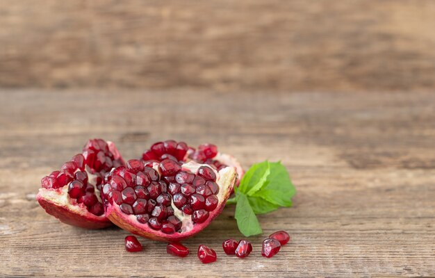
[(38, 194), (36, 199), (47, 213), (65, 224), (83, 229), (102, 229), (112, 225), (112, 222), (108, 218), (93, 215), (92, 213), (76, 213), (68, 206), (46, 199), (41, 194)]

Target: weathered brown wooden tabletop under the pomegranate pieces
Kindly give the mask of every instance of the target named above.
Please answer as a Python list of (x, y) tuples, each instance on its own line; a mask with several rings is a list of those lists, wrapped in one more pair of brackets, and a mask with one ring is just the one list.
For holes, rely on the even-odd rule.
[[(368, 277), (435, 275), (435, 95), (431, 93), (213, 93), (191, 90), (0, 90), (1, 277)], [(293, 208), (259, 217), (247, 259), (226, 256), (243, 238), (228, 206), (186, 241), (186, 259), (121, 229), (76, 229), (35, 201), (40, 178), (88, 138), (136, 158), (151, 142), (215, 142), (249, 167), (281, 160), (297, 187)], [(264, 259), (261, 241), (293, 236)], [(218, 261), (199, 263), (206, 244)]]

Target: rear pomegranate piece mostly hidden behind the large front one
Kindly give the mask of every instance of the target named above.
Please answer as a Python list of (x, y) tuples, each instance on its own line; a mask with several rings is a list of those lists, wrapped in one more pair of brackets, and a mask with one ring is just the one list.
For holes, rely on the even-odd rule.
[(166, 140), (154, 143), (142, 154), (144, 161), (163, 161), (166, 158), (182, 163), (193, 160), (199, 164), (211, 165), (217, 171), (228, 166), (236, 167), (238, 181), (245, 174), (243, 167), (238, 163), (236, 158), (229, 154), (217, 152), (217, 147), (213, 144), (199, 145), (197, 149), (194, 149), (188, 147), (185, 142)]

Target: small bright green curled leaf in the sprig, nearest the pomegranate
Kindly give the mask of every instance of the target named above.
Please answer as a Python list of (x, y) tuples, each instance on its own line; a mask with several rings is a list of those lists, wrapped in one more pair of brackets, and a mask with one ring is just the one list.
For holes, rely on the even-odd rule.
[(256, 163), (247, 170), (240, 181), (239, 190), (246, 195), (254, 195), (264, 185), (270, 174), (269, 161)]

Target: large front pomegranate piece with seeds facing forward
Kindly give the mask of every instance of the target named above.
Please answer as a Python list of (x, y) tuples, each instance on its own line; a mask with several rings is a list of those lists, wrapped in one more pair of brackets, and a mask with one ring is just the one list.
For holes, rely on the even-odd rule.
[[(177, 159), (186, 151), (173, 142), (151, 149), (163, 156), (165, 146)], [(154, 155), (149, 158), (161, 159)], [(107, 217), (122, 229), (154, 240), (177, 242), (202, 231), (222, 212), (236, 182), (236, 168), (217, 171), (177, 159), (133, 159), (126, 167), (114, 168), (102, 188)]]

